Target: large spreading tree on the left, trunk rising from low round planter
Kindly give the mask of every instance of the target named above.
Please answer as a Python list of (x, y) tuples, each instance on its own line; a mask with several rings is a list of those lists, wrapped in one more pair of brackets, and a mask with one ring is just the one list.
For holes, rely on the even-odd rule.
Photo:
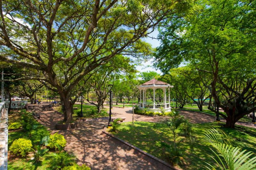
[(140, 38), (189, 4), (185, 0), (5, 0), (0, 7), (0, 60), (38, 70), (38, 75), (24, 79), (42, 81), (58, 92), (64, 121), (71, 122), (77, 98), (71, 96), (82, 78), (118, 54), (147, 55), (147, 44)]

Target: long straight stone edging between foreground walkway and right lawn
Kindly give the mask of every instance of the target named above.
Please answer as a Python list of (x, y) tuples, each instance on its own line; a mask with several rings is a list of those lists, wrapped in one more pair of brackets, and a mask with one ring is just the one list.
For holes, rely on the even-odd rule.
[(162, 164), (162, 166), (166, 166), (168, 169), (175, 169), (173, 166), (171, 166), (170, 164), (168, 164), (167, 162), (163, 161), (162, 159), (159, 159), (159, 158), (156, 158), (155, 156), (153, 155), (150, 155), (149, 153), (145, 152), (145, 151), (142, 151), (140, 148), (137, 148), (136, 146), (128, 143), (128, 142), (125, 142), (124, 140), (112, 135), (112, 134), (109, 134), (108, 132), (106, 132), (105, 130), (102, 131), (104, 134), (118, 140), (119, 142), (121, 143), (124, 143), (125, 145), (131, 147), (132, 149), (136, 150), (136, 151), (139, 151), (140, 153), (142, 153), (143, 155), (149, 157), (149, 158), (152, 158), (153, 160), (155, 160), (157, 163), (159, 164)]

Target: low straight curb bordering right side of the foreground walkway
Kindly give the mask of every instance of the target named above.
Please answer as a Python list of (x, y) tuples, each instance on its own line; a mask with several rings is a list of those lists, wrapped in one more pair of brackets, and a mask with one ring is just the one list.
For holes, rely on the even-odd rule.
[(124, 140), (122, 140), (122, 139), (120, 139), (120, 138), (118, 138), (118, 137), (116, 137), (116, 136), (106, 132), (105, 130), (103, 130), (102, 132), (104, 134), (106, 134), (106, 135), (108, 135), (108, 136), (118, 140), (119, 142), (124, 143), (125, 145), (131, 147), (135, 151), (139, 152), (139, 155), (142, 154), (142, 155), (140, 155), (140, 156), (142, 156), (142, 158), (143, 157), (148, 157), (149, 159), (151, 159), (151, 161), (149, 161), (149, 162), (150, 163), (153, 162), (152, 164), (156, 165), (157, 167), (160, 167), (160, 169), (173, 169), (173, 170), (176, 170), (175, 167), (171, 166), (170, 164), (168, 164), (167, 162), (163, 161), (162, 159), (156, 158), (155, 156), (150, 155), (149, 153), (147, 153), (145, 151), (142, 151), (140, 148), (137, 148), (136, 146), (134, 146), (134, 145), (132, 145), (132, 144), (130, 144), (130, 143), (128, 143), (128, 142), (126, 142), (126, 141), (124, 141)]

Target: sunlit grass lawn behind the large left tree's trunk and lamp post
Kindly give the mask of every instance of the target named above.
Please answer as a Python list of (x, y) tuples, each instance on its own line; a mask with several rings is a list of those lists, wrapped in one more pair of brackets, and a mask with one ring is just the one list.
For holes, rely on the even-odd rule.
[[(77, 108), (76, 110), (74, 109), (74, 115), (73, 118), (75, 119), (76, 117), (79, 117), (81, 113), (81, 104), (74, 104), (73, 108)], [(54, 107), (54, 110), (63, 113), (61, 110), (61, 105)], [(92, 112), (93, 110), (93, 112)], [(97, 107), (94, 105), (88, 105), (88, 104), (83, 104), (83, 115), (84, 118), (100, 118), (100, 117), (108, 117), (108, 112), (107, 109), (101, 109), (101, 113), (97, 112)]]

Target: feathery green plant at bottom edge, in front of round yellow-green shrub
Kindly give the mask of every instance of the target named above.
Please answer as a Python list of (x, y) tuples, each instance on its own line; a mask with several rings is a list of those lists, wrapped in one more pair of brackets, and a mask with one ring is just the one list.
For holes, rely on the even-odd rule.
[(68, 154), (68, 152), (52, 153), (48, 161), (49, 169), (63, 169), (65, 166), (73, 166), (76, 164), (76, 156)]

